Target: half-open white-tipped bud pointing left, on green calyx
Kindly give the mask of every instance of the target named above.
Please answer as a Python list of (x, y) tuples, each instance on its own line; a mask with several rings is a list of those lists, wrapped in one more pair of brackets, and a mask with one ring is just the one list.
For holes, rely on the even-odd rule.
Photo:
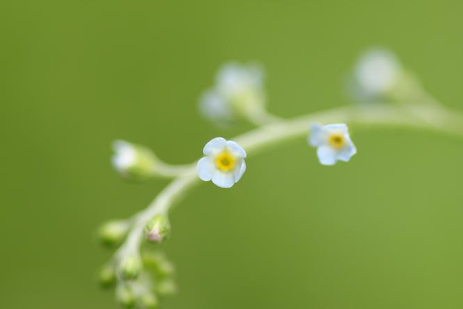
[(151, 150), (120, 140), (114, 142), (113, 149), (113, 166), (122, 176), (144, 180), (156, 174), (158, 159)]

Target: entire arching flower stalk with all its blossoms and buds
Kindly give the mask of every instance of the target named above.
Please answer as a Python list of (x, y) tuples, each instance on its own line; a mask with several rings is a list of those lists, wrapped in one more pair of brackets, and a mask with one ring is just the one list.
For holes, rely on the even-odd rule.
[[(232, 138), (233, 141), (213, 138), (204, 147), (205, 157), (184, 166), (165, 164), (143, 146), (118, 142), (113, 162), (124, 177), (147, 179), (161, 176), (173, 180), (146, 209), (127, 221), (113, 221), (101, 229), (101, 239), (105, 242), (122, 242), (113, 260), (102, 269), (101, 283), (111, 285), (115, 279), (116, 297), (124, 306), (138, 304), (140, 308), (157, 308), (157, 296), (171, 294), (175, 290), (171, 278), (173, 269), (163, 255), (147, 255), (142, 252), (143, 240), (146, 238), (156, 246), (170, 235), (170, 209), (199, 184), (200, 180), (212, 180), (222, 188), (232, 187), (245, 171), (245, 158), (270, 147), (307, 138), (311, 128), (314, 132), (311, 132), (310, 143), (318, 147), (318, 158), (325, 165), (332, 165), (336, 160), (349, 161), (357, 152), (344, 123), (354, 125), (356, 129), (391, 127), (463, 137), (461, 113), (437, 102), (414, 79), (409, 79), (409, 85), (412, 86), (408, 89), (398, 87), (397, 81), (392, 81), (391, 78), (407, 77), (405, 71), (401, 71), (400, 66), (396, 65), (389, 72), (387, 62), (391, 60), (384, 62), (384, 59), (377, 58), (377, 54), (373, 56), (368, 61), (373, 63), (375, 70), (379, 68), (387, 72), (385, 76), (388, 79), (377, 79), (371, 84), (368, 79), (364, 79), (370, 78), (374, 73), (367, 66), (360, 71), (362, 74), (359, 75), (359, 80), (362, 82), (359, 84), (370, 87), (368, 97), (388, 95), (394, 98), (393, 95), (396, 95), (396, 104), (358, 104), (286, 120), (263, 109), (265, 101), (261, 72), (255, 67), (241, 68), (232, 65), (219, 74), (218, 85), (203, 97), (202, 106), (214, 107), (213, 113), (206, 114), (208, 117), (230, 120), (241, 116), (257, 125), (255, 129)], [(379, 55), (382, 56), (384, 55)], [(395, 92), (391, 89), (395, 89)], [(327, 125), (333, 123), (340, 125)], [(330, 148), (330, 155), (327, 156), (322, 148)], [(214, 175), (218, 175), (218, 178), (215, 179)]]

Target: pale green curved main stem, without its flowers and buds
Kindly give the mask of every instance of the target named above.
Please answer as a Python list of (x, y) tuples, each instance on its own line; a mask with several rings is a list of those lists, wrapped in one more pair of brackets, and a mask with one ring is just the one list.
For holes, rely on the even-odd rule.
[[(463, 136), (463, 116), (448, 109), (435, 109), (427, 105), (373, 105), (348, 106), (329, 111), (311, 113), (292, 120), (281, 120), (233, 138), (245, 148), (248, 157), (263, 150), (266, 146), (275, 145), (293, 138), (307, 136), (312, 123), (348, 122), (350, 125), (368, 127), (404, 127), (409, 129), (430, 129)], [(167, 214), (174, 203), (195, 184), (199, 183), (196, 173), (196, 163), (190, 164), (184, 172), (165, 187), (159, 196), (136, 216), (129, 236), (120, 248), (122, 255), (138, 250), (143, 239), (145, 223), (154, 214)]]

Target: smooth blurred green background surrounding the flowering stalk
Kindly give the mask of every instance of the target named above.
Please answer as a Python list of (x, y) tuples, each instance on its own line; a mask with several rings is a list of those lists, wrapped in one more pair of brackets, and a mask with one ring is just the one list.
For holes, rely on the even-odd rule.
[[(260, 61), (270, 111), (348, 104), (343, 79), (382, 45), (463, 109), (462, 1), (0, 3), (1, 308), (115, 308), (95, 269), (99, 223), (168, 182), (124, 182), (111, 141), (172, 163), (250, 126), (214, 127), (197, 98), (225, 61)], [(463, 308), (463, 141), (354, 129), (349, 164), (298, 141), (202, 184), (163, 245), (179, 294), (163, 308)]]

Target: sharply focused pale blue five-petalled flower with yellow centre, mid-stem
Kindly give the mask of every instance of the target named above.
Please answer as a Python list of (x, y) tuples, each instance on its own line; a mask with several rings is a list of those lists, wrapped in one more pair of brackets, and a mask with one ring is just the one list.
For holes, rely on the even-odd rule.
[(206, 157), (197, 162), (197, 174), (205, 182), (212, 180), (218, 187), (230, 188), (246, 170), (246, 152), (234, 141), (213, 138), (202, 152)]

